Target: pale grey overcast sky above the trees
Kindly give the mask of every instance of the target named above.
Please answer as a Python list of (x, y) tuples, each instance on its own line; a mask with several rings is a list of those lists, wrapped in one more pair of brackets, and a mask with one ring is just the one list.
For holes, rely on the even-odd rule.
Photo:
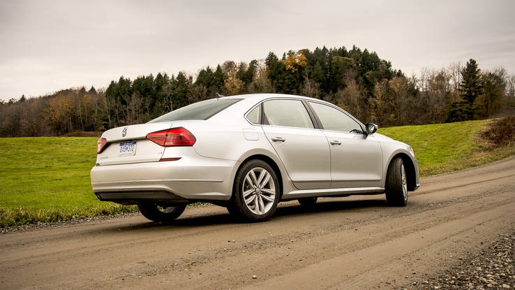
[(0, 0), (0, 99), (323, 45), (408, 76), (470, 58), (513, 74), (515, 1)]

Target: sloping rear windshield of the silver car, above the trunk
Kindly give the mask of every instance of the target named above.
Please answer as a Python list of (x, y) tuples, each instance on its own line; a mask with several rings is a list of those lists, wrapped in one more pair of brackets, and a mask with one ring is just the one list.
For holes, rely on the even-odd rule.
[(149, 121), (149, 123), (170, 122), (187, 119), (209, 119), (241, 99), (210, 99), (192, 103)]

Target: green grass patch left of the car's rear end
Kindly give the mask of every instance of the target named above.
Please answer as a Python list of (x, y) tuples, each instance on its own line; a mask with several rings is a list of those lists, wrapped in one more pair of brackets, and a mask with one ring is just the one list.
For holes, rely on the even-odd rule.
[(91, 191), (96, 140), (0, 138), (0, 227), (134, 210), (100, 202)]

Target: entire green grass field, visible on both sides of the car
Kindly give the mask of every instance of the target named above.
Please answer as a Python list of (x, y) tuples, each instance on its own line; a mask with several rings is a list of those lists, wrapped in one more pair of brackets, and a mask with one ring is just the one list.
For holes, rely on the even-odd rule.
[[(446, 173), (515, 154), (486, 151), (479, 132), (487, 121), (403, 126), (379, 133), (415, 150), (421, 175)], [(135, 211), (100, 202), (91, 190), (96, 140), (87, 137), (0, 138), (0, 227)]]

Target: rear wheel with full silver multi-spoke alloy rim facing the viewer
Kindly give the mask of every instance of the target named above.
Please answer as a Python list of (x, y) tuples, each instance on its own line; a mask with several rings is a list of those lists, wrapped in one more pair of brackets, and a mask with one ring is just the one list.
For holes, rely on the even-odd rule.
[(246, 222), (263, 222), (274, 215), (280, 193), (274, 169), (262, 160), (251, 160), (236, 174), (227, 210)]

